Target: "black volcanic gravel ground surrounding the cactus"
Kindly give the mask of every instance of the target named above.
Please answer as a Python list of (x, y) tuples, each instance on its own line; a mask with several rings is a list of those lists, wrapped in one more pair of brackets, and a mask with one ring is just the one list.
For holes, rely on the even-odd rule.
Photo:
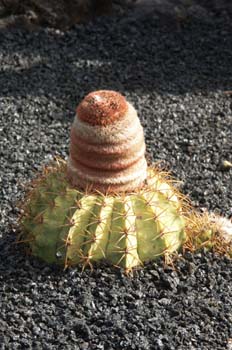
[(102, 18), (66, 33), (0, 36), (0, 349), (229, 349), (232, 263), (187, 254), (133, 278), (47, 267), (13, 245), (20, 183), (67, 156), (80, 99), (124, 93), (138, 109), (148, 151), (183, 181), (198, 207), (231, 215), (232, 25), (222, 13), (184, 25), (156, 17)]

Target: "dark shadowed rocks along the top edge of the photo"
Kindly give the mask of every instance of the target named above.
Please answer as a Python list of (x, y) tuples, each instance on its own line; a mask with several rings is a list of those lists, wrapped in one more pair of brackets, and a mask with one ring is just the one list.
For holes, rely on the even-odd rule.
[(65, 30), (101, 15), (152, 15), (165, 21), (186, 21), (223, 12), (232, 17), (231, 0), (0, 0), (0, 29), (42, 26)]

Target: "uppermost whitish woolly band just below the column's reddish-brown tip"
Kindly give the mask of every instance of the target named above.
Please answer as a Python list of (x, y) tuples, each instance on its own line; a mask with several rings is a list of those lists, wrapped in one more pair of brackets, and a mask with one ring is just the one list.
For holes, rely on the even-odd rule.
[(143, 129), (136, 110), (130, 103), (127, 104), (128, 110), (122, 119), (104, 126), (90, 125), (76, 115), (73, 123), (76, 136), (96, 144), (121, 143), (133, 139), (138, 133), (143, 132)]

